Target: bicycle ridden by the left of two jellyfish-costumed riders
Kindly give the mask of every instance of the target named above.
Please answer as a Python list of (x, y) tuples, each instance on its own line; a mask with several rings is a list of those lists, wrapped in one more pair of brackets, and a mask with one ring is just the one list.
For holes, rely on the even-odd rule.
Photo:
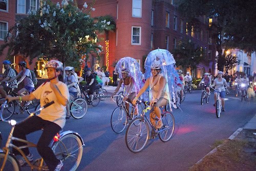
[[(114, 97), (116, 96), (118, 95), (115, 95)], [(110, 120), (111, 128), (117, 134), (123, 132), (123, 130), (125, 129), (125, 126), (128, 125), (131, 122), (131, 120), (139, 116), (139, 113), (142, 111), (142, 106), (137, 104), (137, 111), (138, 111), (137, 115), (135, 115), (136, 110), (133, 105), (132, 105), (132, 111), (128, 112), (128, 110), (126, 109), (125, 103), (129, 103), (129, 102), (122, 101), (121, 105), (118, 106), (112, 112), (112, 115), (111, 115), (111, 120)]]

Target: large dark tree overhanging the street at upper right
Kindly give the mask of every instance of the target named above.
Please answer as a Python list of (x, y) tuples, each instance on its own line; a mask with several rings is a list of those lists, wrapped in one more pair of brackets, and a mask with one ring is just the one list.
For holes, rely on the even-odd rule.
[(193, 25), (199, 16), (214, 19), (210, 28), (212, 39), (216, 42), (219, 53), (218, 69), (223, 71), (226, 63), (225, 48), (239, 48), (245, 51), (255, 51), (256, 26), (254, 11), (256, 2), (253, 0), (181, 0), (179, 11)]

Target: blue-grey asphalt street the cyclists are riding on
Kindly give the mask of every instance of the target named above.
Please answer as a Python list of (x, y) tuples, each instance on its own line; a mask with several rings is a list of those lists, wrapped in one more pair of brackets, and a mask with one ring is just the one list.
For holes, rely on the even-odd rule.
[[(90, 107), (82, 119), (67, 120), (64, 130), (78, 132), (85, 146), (77, 170), (188, 170), (211, 151), (216, 140), (227, 139), (256, 114), (256, 100), (243, 101), (232, 94), (226, 97), (226, 112), (216, 117), (213, 94), (208, 104), (201, 105), (201, 91), (186, 94), (181, 109), (173, 111), (175, 133), (168, 142), (149, 140), (142, 152), (134, 154), (125, 145), (125, 131), (115, 134), (110, 125), (112, 111), (117, 107), (110, 99)], [(12, 119), (23, 119), (16, 115)], [(10, 126), (0, 122), (4, 140)], [(38, 133), (28, 136), (32, 142)], [(35, 149), (31, 150), (36, 156)], [(23, 167), (23, 170), (30, 170)]]

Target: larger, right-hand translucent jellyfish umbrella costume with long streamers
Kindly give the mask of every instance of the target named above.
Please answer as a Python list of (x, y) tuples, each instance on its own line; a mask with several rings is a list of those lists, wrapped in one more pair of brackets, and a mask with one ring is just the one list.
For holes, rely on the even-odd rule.
[[(179, 78), (179, 75), (176, 71), (176, 61), (173, 57), (173, 54), (171, 54), (166, 49), (156, 49), (148, 53), (144, 68), (145, 68), (145, 78), (148, 79), (152, 76), (151, 73), (151, 65), (152, 63), (158, 63), (158, 65), (161, 66), (161, 74), (166, 79), (166, 91), (168, 94), (168, 101), (169, 106), (172, 106), (172, 101), (177, 101), (177, 106), (180, 106), (179, 104), (179, 97), (177, 95), (177, 84), (182, 84), (182, 81)], [(152, 100), (152, 90), (150, 89), (150, 100)], [(176, 100), (178, 99), (178, 100)], [(170, 108), (171, 109), (171, 108)]]

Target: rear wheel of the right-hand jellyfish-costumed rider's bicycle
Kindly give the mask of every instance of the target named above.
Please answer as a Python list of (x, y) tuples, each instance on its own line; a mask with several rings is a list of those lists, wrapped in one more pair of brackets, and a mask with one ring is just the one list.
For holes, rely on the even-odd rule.
[(163, 127), (159, 129), (159, 139), (163, 142), (169, 141), (173, 136), (175, 128), (174, 116), (170, 112), (162, 114)]

